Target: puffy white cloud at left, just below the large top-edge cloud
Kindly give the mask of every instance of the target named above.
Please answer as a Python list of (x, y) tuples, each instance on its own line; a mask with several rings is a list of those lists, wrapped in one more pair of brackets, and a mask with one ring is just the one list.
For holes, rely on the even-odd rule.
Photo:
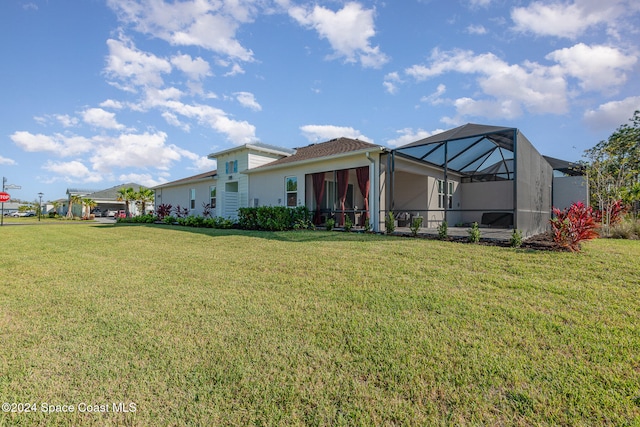
[(109, 78), (120, 80), (119, 87), (123, 90), (136, 92), (138, 86), (162, 86), (162, 74), (171, 72), (169, 61), (136, 49), (129, 40), (109, 39), (107, 46), (105, 73)]

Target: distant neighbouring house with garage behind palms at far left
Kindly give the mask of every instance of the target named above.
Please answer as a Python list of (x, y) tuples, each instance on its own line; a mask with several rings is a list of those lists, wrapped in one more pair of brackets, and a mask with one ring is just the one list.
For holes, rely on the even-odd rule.
[[(134, 191), (140, 191), (140, 188), (145, 188), (143, 185), (136, 184), (130, 182), (128, 184), (116, 185), (115, 187), (107, 188), (105, 190), (83, 190), (76, 188), (67, 189), (67, 199), (64, 200), (63, 206), (59, 208), (59, 213), (61, 215), (66, 215), (69, 210), (69, 201), (71, 200), (71, 196), (80, 196), (83, 199), (91, 199), (96, 202), (96, 206), (93, 208), (94, 210), (100, 210), (101, 212), (106, 212), (109, 210), (119, 211), (125, 210), (125, 202), (124, 200), (118, 200), (118, 190), (122, 188), (133, 188)], [(147, 213), (153, 211), (154, 202), (151, 201), (147, 204), (146, 210)], [(74, 203), (71, 207), (73, 209), (73, 216), (82, 216), (83, 215), (83, 207), (82, 204)], [(136, 206), (134, 201), (131, 201), (129, 204), (129, 212), (131, 215), (139, 215), (141, 212), (138, 212), (138, 207)]]

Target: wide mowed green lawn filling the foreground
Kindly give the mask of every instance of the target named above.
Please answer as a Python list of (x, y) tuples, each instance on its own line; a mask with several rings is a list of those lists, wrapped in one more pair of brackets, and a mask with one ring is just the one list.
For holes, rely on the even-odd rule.
[(637, 241), (76, 222), (0, 237), (0, 400), (37, 405), (3, 426), (640, 425)]

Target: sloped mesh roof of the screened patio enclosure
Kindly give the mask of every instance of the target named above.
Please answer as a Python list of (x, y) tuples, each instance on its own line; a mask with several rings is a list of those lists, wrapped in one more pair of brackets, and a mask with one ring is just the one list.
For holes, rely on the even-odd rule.
[(470, 181), (515, 179), (516, 128), (466, 124), (396, 148), (394, 154)]

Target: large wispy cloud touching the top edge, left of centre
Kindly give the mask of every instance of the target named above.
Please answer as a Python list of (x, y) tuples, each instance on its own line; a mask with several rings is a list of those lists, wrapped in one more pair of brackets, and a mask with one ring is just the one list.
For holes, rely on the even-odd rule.
[(256, 13), (252, 1), (108, 0), (120, 21), (141, 33), (173, 45), (198, 46), (241, 61), (252, 61), (253, 52), (236, 39), (241, 23)]

